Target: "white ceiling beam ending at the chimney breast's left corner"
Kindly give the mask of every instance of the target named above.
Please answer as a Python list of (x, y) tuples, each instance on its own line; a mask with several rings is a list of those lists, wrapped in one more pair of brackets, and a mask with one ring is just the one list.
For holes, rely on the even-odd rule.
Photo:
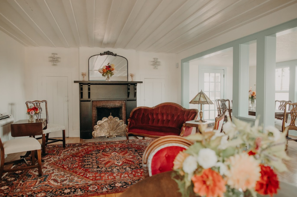
[(62, 3), (64, 5), (64, 9), (69, 20), (76, 44), (78, 45), (78, 47), (82, 47), (71, 0), (62, 0)]

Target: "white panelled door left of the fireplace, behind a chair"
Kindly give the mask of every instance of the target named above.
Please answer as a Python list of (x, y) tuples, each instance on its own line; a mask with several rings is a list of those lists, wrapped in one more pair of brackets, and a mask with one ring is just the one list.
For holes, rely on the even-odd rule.
[[(65, 126), (68, 137), (68, 84), (67, 77), (42, 76), (41, 100), (48, 101), (49, 123)], [(43, 107), (43, 106), (42, 106)], [(45, 108), (43, 117), (46, 117)], [(50, 137), (62, 137), (62, 131), (50, 133)]]

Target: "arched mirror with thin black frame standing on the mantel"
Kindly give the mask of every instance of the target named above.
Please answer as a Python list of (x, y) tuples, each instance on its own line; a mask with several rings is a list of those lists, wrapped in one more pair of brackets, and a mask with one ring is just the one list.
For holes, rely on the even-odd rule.
[(115, 74), (110, 77), (110, 81), (128, 81), (128, 60), (110, 51), (105, 51), (99, 55), (89, 58), (89, 81), (105, 81), (106, 77), (98, 71), (109, 63), (114, 64)]

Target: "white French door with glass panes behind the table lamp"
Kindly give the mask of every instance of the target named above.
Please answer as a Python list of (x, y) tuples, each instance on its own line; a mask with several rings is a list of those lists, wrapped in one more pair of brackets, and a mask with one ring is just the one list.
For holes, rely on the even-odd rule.
[(202, 90), (214, 103), (213, 105), (202, 105), (203, 118), (205, 120), (214, 120), (218, 115), (216, 99), (224, 98), (224, 70), (200, 69), (199, 90)]

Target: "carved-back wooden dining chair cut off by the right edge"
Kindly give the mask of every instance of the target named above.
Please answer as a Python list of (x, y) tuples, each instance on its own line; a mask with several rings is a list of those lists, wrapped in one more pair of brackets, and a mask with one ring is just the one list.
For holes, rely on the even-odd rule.
[[(290, 109), (291, 106), (292, 106), (292, 109), (288, 110), (288, 112), (287, 112), (287, 109)], [(289, 102), (285, 103), (284, 116), (283, 117), (287, 117), (287, 115), (291, 116), (291, 122), (290, 123), (286, 123), (286, 119), (283, 118), (282, 120), (275, 120), (275, 125), (274, 126), (277, 129), (279, 129), (279, 131), (281, 131), (281, 132), (284, 132), (286, 128), (288, 129), (288, 131), (289, 130), (296, 130), (297, 131), (297, 126), (295, 124), (296, 117), (297, 117), (297, 103), (289, 103)], [(286, 139), (287, 139), (287, 141), (294, 140), (294, 141), (297, 142), (297, 138), (289, 137), (289, 132), (287, 133)], [(287, 145), (286, 145), (286, 150), (287, 150)]]

